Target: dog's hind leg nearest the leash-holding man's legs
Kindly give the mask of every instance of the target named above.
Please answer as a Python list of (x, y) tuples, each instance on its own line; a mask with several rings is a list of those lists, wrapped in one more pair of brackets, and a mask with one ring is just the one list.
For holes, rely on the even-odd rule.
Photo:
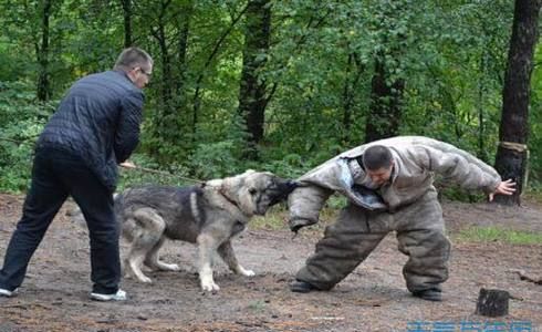
[[(134, 211), (132, 217), (137, 224), (137, 229), (133, 232), (133, 240), (126, 257), (125, 268), (142, 282), (152, 282), (150, 278), (142, 271), (143, 263), (148, 253), (155, 249), (166, 229), (166, 222), (153, 208), (140, 208)], [(156, 256), (158, 253), (156, 252)]]

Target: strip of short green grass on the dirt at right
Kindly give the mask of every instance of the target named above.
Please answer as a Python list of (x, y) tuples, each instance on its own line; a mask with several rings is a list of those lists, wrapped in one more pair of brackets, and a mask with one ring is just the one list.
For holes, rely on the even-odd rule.
[(504, 242), (510, 245), (542, 245), (542, 232), (512, 230), (502, 227), (469, 227), (459, 231), (458, 240), (467, 242)]

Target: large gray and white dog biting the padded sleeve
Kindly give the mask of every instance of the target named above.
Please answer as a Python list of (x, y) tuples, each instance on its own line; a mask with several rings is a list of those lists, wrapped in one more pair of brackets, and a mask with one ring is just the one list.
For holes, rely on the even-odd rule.
[(218, 252), (238, 274), (254, 276), (239, 264), (231, 239), (251, 217), (263, 216), (269, 207), (284, 200), (295, 188), (292, 180), (268, 172), (213, 179), (190, 187), (147, 186), (131, 188), (115, 198), (115, 212), (129, 251), (123, 261), (125, 273), (142, 282), (150, 279), (143, 266), (153, 270), (177, 271), (179, 267), (159, 260), (166, 239), (196, 243), (199, 279), (205, 291), (220, 288), (212, 278), (212, 257)]

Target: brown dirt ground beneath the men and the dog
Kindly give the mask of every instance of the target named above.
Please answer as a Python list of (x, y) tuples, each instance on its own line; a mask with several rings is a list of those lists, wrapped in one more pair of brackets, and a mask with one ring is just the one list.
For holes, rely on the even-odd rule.
[[(20, 217), (22, 197), (0, 195), (0, 257)], [(292, 293), (323, 228), (248, 230), (233, 242), (239, 260), (256, 277), (238, 277), (220, 262), (217, 293), (198, 287), (196, 250), (170, 242), (165, 261), (180, 272), (154, 272), (154, 283), (123, 281), (124, 303), (88, 300), (90, 263), (85, 227), (71, 222), (65, 208), (35, 252), (19, 295), (0, 298), (0, 331), (542, 331), (542, 286), (515, 270), (542, 278), (542, 246), (454, 240), (450, 279), (442, 302), (409, 295), (402, 276), (406, 257), (388, 236), (348, 278), (329, 292)], [(500, 225), (542, 232), (542, 206), (521, 208), (445, 203), (451, 237), (470, 225)], [(510, 314), (476, 315), (481, 288), (511, 293)]]

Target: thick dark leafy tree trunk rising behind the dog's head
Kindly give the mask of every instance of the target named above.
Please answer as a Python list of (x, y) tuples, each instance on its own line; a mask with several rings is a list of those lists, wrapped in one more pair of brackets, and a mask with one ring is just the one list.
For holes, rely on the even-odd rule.
[(271, 37), (269, 0), (252, 0), (247, 9), (243, 64), (239, 92), (239, 114), (250, 134), (249, 148), (256, 148), (263, 137), (267, 106), (265, 81), (259, 72), (265, 64)]

